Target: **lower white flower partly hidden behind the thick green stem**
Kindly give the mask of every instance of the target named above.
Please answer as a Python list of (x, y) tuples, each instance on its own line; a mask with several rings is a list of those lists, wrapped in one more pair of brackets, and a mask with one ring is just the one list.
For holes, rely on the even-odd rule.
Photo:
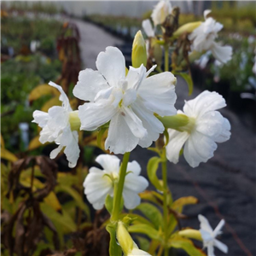
[[(115, 155), (100, 154), (96, 158), (103, 170), (91, 167), (89, 174), (84, 180), (84, 194), (92, 206), (98, 210), (104, 206), (107, 195), (113, 196), (114, 180), (119, 179), (119, 158)], [(123, 197), (125, 207), (133, 209), (140, 204), (138, 193), (143, 192), (148, 187), (148, 181), (145, 177), (139, 176), (141, 166), (137, 161), (128, 163)]]

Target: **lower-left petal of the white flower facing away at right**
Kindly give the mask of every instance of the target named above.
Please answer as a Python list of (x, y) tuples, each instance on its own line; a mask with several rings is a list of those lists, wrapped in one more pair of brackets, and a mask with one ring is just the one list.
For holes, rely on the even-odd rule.
[(186, 131), (180, 132), (172, 129), (168, 129), (169, 143), (166, 146), (166, 157), (169, 161), (177, 164), (179, 158), (179, 152), (183, 147), (183, 144), (189, 138), (189, 133)]

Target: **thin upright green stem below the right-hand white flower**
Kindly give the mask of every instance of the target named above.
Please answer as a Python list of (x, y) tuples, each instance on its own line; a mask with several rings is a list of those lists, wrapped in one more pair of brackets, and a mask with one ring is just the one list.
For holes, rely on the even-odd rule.
[(168, 206), (167, 206), (167, 159), (166, 159), (166, 148), (163, 148), (162, 152), (162, 178), (163, 178), (163, 197), (164, 197), (164, 236), (165, 236), (165, 256), (168, 256)]

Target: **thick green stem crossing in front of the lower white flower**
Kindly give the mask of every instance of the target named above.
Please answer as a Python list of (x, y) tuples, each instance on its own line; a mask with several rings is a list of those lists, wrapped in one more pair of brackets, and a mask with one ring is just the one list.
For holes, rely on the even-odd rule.
[(112, 216), (111, 216), (112, 222), (117, 222), (119, 220), (120, 205), (121, 205), (121, 200), (122, 200), (122, 195), (123, 195), (126, 169), (127, 169), (129, 158), (130, 158), (130, 152), (126, 152), (124, 154), (123, 162), (120, 167), (119, 183), (117, 184), (116, 189), (114, 189), (113, 212), (112, 212)]

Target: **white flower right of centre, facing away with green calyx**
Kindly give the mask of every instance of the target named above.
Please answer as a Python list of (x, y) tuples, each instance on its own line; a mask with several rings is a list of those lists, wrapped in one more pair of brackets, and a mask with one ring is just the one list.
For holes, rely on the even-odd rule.
[(195, 99), (185, 102), (182, 111), (189, 117), (189, 124), (182, 131), (168, 129), (169, 143), (166, 147), (167, 159), (177, 163), (179, 152), (184, 146), (184, 157), (189, 166), (199, 166), (213, 156), (216, 143), (224, 143), (230, 138), (230, 122), (218, 111), (224, 108), (224, 98), (217, 92), (203, 91)]

